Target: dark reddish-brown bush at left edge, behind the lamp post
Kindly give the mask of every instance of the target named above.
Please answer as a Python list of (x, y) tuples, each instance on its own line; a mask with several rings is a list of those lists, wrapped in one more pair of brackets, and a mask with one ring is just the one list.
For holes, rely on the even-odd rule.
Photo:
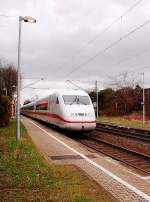
[(10, 116), (11, 116), (10, 97), (0, 95), (0, 127), (9, 124)]

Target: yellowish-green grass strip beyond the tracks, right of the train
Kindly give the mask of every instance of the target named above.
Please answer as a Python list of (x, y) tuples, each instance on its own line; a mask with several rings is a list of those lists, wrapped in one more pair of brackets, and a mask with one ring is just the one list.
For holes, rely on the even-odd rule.
[[(101, 116), (97, 119), (97, 121), (120, 124), (136, 128), (143, 128), (142, 120), (137, 120), (134, 118)], [(150, 129), (150, 121), (145, 122), (144, 128)]]

